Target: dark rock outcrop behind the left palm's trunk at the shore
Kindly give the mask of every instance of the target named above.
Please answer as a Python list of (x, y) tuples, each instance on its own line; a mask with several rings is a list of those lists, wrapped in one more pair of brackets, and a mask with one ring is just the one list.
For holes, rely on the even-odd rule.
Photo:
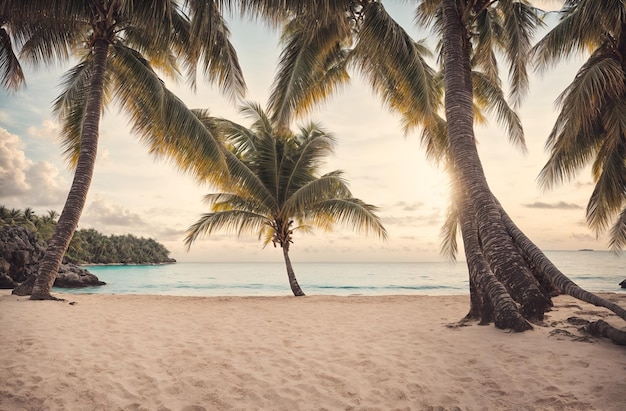
[[(0, 227), (0, 288), (11, 289), (22, 284), (23, 286), (17, 289), (19, 295), (30, 294), (39, 268), (39, 261), (45, 250), (45, 243), (27, 228)], [(63, 264), (54, 282), (55, 287), (64, 288), (104, 284), (98, 277), (74, 264)]]

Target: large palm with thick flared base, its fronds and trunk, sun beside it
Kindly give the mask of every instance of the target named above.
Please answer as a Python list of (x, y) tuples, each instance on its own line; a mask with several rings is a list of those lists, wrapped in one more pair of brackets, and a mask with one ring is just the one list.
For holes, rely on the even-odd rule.
[[(523, 146), (517, 117), (498, 94), (496, 52), (502, 52), (509, 63), (510, 97), (518, 104), (528, 85), (526, 59), (540, 22), (525, 1), (418, 2), (418, 21), (432, 24), (441, 37), (441, 77), (425, 66), (419, 44), (389, 18), (380, 2), (346, 0), (314, 6), (308, 2), (307, 7), (299, 0), (245, 3), (250, 4), (249, 10), (274, 21), (295, 16), (292, 22), (296, 23), (289, 23), (285, 31), (286, 38), (294, 40), (287, 42), (281, 55), (275, 81), (278, 92), (272, 93), (275, 118), (298, 114), (342, 84), (325, 81), (342, 79), (332, 76), (343, 68), (336, 50), (343, 51), (356, 41), (347, 53), (349, 61), (370, 79), (384, 103), (402, 114), (407, 130), (423, 127), (427, 153), (443, 161), (454, 180), (455, 212), (446, 223), (444, 238), (453, 248), (457, 229), (463, 237), (470, 274), (467, 318), (493, 321), (499, 328), (527, 330), (532, 328), (529, 321), (543, 319), (552, 305), (550, 296), (565, 292), (626, 319), (626, 310), (580, 289), (564, 276), (515, 226), (485, 179), (473, 128), (476, 105), (494, 110), (513, 141)], [(303, 27), (299, 37), (294, 35), (298, 27)], [(333, 37), (347, 31), (351, 34)], [(442, 95), (438, 81), (445, 89), (447, 121), (437, 112)], [(288, 114), (280, 114), (283, 110)]]

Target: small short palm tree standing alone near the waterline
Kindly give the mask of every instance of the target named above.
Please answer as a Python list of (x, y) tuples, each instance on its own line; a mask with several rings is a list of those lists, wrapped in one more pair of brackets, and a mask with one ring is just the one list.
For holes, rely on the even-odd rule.
[(229, 147), (231, 180), (220, 187), (223, 192), (205, 197), (212, 212), (189, 227), (185, 243), (189, 248), (199, 236), (217, 230), (257, 234), (264, 246), (272, 242), (282, 248), (291, 291), (303, 296), (289, 258), (295, 232), (330, 230), (339, 222), (383, 239), (387, 233), (376, 207), (352, 197), (341, 171), (318, 175), (333, 151), (331, 135), (316, 124), (294, 134), (251, 103), (242, 113), (253, 120), (250, 129), (199, 112)]

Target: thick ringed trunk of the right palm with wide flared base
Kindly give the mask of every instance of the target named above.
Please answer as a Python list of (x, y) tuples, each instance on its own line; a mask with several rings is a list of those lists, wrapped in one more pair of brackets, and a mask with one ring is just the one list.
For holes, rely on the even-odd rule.
[[(491, 193), (474, 141), (471, 44), (455, 0), (442, 0), (442, 4), (450, 158), (470, 274), (471, 306), (466, 318), (523, 331), (532, 328), (526, 320), (543, 319), (552, 305), (551, 295), (563, 292), (606, 307), (626, 320), (622, 307), (583, 290), (563, 275), (515, 226)], [(587, 330), (624, 343), (625, 332), (605, 322), (590, 323)]]

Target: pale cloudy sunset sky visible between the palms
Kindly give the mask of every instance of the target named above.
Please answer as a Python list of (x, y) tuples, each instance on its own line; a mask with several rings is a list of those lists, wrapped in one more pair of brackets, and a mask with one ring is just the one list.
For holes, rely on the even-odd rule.
[[(558, 1), (547, 7), (558, 8)], [(415, 38), (427, 37), (413, 22), (410, 6), (386, 2), (389, 12)], [(248, 84), (246, 99), (265, 105), (279, 57), (278, 33), (249, 20), (229, 19), (233, 42)], [(537, 176), (548, 154), (544, 143), (558, 114), (555, 99), (572, 81), (581, 59), (533, 75), (519, 115), (528, 152), (512, 146), (495, 120), (476, 127), (479, 154), (487, 181), (516, 224), (544, 250), (606, 249), (604, 234), (585, 224), (585, 207), (593, 189), (588, 169), (562, 186), (545, 192)], [(0, 204), (33, 208), (38, 214), (60, 212), (72, 180), (57, 140), (58, 123), (51, 112), (64, 66), (35, 70), (26, 67), (27, 88), (0, 91)], [(445, 173), (430, 163), (418, 132), (405, 135), (399, 116), (390, 114), (366, 82), (352, 81), (309, 119), (337, 138), (336, 152), (325, 171), (344, 170), (353, 195), (379, 207), (389, 239), (365, 237), (338, 226), (332, 232), (296, 233), (293, 261), (440, 261), (440, 227), (448, 203)], [(196, 92), (181, 82), (168, 84), (190, 108), (208, 108), (212, 115), (250, 124), (236, 104), (200, 80)], [(308, 119), (296, 122), (305, 123)], [(111, 106), (100, 126), (93, 182), (79, 228), (104, 234), (154, 238), (178, 261), (281, 261), (282, 253), (263, 249), (256, 236), (217, 233), (186, 250), (185, 230), (202, 213), (212, 187), (199, 186), (166, 161), (155, 160)], [(462, 251), (459, 259), (463, 259)]]

